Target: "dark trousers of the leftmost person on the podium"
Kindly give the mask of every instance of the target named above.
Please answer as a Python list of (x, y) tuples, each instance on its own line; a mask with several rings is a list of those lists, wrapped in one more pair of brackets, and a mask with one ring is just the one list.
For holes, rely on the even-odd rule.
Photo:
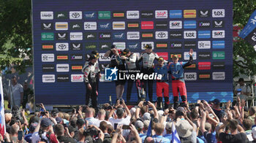
[(97, 108), (97, 82), (90, 82), (91, 90), (86, 85), (86, 105), (89, 104), (91, 98), (91, 105), (93, 108)]

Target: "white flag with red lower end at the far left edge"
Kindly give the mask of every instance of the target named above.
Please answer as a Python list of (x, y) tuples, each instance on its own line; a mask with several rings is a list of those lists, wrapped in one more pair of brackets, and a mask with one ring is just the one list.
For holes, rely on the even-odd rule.
[(3, 92), (3, 84), (1, 82), (0, 77), (0, 134), (4, 136), (5, 134), (5, 119), (4, 119), (4, 92)]

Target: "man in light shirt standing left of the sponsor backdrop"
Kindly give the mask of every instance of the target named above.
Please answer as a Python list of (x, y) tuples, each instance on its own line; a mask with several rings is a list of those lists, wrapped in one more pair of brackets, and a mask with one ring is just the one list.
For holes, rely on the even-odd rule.
[(20, 104), (23, 102), (23, 86), (17, 82), (17, 77), (12, 77), (12, 85), (11, 85), (12, 96), (10, 96), (10, 101), (12, 101), (12, 107), (17, 105), (20, 107)]

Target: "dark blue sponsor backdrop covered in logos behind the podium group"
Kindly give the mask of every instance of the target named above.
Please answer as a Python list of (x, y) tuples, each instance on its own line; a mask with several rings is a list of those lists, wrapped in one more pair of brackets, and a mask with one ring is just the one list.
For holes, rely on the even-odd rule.
[[(151, 44), (167, 61), (173, 54), (189, 60), (192, 48), (194, 64), (184, 72), (188, 101), (233, 100), (232, 0), (45, 0), (32, 5), (36, 103), (85, 104), (81, 69), (92, 50), (99, 51), (99, 103), (109, 95), (115, 101), (114, 82), (104, 80), (110, 58), (103, 55), (112, 44), (138, 55)], [(126, 93), (127, 88), (124, 99)], [(135, 84), (132, 101), (138, 101)]]

